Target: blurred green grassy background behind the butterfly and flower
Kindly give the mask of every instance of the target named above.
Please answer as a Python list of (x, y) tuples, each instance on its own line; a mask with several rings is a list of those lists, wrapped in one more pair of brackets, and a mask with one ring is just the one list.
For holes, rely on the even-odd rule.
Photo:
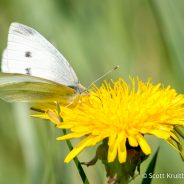
[[(0, 0), (0, 53), (6, 47), (11, 22), (29, 25), (44, 35), (67, 58), (82, 84), (88, 86), (114, 65), (120, 69), (106, 78), (139, 76), (170, 84), (183, 92), (183, 0)], [(0, 55), (1, 55), (0, 54)], [(98, 85), (102, 81), (98, 82)], [(0, 101), (0, 184), (81, 184), (73, 162), (53, 124), (29, 117), (26, 104)], [(160, 145), (155, 173), (184, 173), (179, 154)], [(81, 153), (89, 161), (95, 148)], [(151, 157), (150, 157), (151, 158)], [(141, 165), (141, 175), (150, 159)], [(106, 182), (100, 161), (84, 167), (92, 184)], [(140, 183), (142, 176), (132, 183)], [(153, 184), (184, 183), (184, 179), (154, 179)]]

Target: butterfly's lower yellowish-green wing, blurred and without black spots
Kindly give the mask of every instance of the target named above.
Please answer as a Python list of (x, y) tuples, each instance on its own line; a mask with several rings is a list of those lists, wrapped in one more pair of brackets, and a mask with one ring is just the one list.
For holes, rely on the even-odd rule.
[(20, 102), (53, 102), (68, 104), (76, 91), (59, 83), (34, 76), (0, 73), (0, 98)]

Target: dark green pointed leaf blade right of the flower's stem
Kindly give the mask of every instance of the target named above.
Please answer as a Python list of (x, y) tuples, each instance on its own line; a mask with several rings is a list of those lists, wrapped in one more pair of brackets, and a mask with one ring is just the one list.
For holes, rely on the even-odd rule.
[(157, 149), (155, 155), (153, 156), (146, 172), (145, 172), (145, 177), (144, 179), (142, 180), (142, 184), (149, 184), (151, 183), (151, 180), (152, 178), (151, 177), (148, 177), (149, 176), (149, 173), (154, 173), (154, 170), (155, 170), (155, 165), (156, 165), (156, 161), (157, 161), (157, 156), (158, 156), (158, 151), (159, 151), (159, 148)]

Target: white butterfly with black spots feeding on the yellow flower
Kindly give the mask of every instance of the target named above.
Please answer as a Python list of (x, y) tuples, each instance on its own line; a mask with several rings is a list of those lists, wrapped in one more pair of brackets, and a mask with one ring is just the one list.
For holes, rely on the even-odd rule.
[(64, 56), (36, 30), (12, 23), (0, 73), (0, 98), (71, 103), (85, 88)]

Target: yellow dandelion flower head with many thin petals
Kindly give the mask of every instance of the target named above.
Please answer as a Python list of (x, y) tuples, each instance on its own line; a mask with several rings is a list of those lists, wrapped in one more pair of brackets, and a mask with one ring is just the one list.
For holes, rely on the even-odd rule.
[[(145, 155), (151, 148), (144, 135), (154, 135), (174, 146), (180, 143), (175, 127), (184, 127), (184, 95), (177, 94), (170, 86), (160, 83), (153, 85), (139, 79), (131, 79), (128, 85), (123, 79), (104, 82), (95, 87), (87, 96), (82, 96), (74, 108), (61, 107), (60, 115), (64, 122), (58, 128), (69, 129), (70, 133), (58, 140), (83, 139), (68, 154), (69, 162), (86, 147), (108, 140), (108, 162), (117, 157), (120, 163), (126, 162), (126, 143), (142, 149)], [(53, 111), (52, 112), (56, 112)], [(57, 114), (56, 114), (57, 115)], [(176, 146), (175, 146), (176, 147)]]

